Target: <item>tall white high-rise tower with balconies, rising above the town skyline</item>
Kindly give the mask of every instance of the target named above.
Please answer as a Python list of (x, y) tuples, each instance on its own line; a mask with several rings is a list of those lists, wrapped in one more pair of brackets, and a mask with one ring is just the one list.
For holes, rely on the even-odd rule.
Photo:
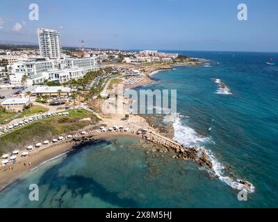
[(58, 31), (38, 28), (40, 56), (51, 59), (60, 58), (60, 35)]

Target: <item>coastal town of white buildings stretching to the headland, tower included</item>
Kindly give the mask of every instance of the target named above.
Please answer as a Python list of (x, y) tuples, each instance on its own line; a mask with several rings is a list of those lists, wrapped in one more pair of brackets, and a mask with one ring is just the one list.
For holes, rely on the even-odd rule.
[[(0, 105), (6, 111), (21, 112), (31, 104), (30, 97), (40, 102), (45, 94), (56, 103), (66, 103), (71, 92), (81, 87), (79, 83), (86, 74), (94, 73), (85, 87), (93, 91), (87, 98), (95, 98), (112, 78), (111, 84), (125, 81), (125, 85), (134, 85), (144, 80), (149, 67), (154, 67), (149, 71), (155, 71), (161, 69), (156, 65), (195, 62), (177, 53), (154, 50), (88, 49), (83, 40), (79, 48), (63, 49), (58, 31), (38, 28), (37, 33), (38, 46), (0, 45)], [(57, 101), (58, 94), (63, 99)], [(53, 104), (49, 99), (45, 102)]]

